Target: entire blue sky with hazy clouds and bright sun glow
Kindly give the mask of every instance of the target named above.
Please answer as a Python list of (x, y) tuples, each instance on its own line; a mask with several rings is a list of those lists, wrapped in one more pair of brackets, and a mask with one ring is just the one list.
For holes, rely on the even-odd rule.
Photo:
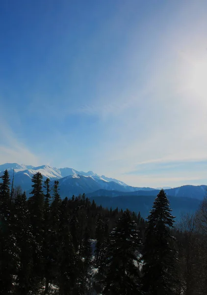
[(0, 2), (0, 164), (207, 183), (207, 1)]

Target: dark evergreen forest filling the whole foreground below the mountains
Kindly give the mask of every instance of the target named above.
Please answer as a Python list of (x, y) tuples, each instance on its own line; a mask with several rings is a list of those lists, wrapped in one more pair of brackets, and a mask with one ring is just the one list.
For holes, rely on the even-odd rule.
[[(28, 198), (0, 182), (0, 294), (206, 295), (207, 200), (175, 227), (164, 190), (147, 222), (37, 173)], [(138, 208), (134, 208), (137, 212)]]

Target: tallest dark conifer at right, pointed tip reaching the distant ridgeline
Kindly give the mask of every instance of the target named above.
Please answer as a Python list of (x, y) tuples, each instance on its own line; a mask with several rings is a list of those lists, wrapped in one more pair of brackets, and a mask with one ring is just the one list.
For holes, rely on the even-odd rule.
[(149, 295), (175, 295), (174, 249), (170, 228), (174, 225), (169, 200), (162, 189), (148, 216), (148, 227), (143, 249), (143, 289)]

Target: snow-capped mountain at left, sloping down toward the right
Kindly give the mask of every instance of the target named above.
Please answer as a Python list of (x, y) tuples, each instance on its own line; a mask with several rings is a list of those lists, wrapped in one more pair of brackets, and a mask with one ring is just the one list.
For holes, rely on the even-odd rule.
[(71, 196), (75, 193), (88, 193), (98, 189), (116, 189), (119, 191), (134, 191), (135, 189), (120, 180), (99, 176), (93, 171), (84, 172), (73, 168), (58, 169), (48, 165), (34, 167), (23, 164), (19, 165), (17, 163), (6, 163), (0, 165), (0, 175), (2, 175), (5, 169), (9, 171), (11, 179), (14, 169), (14, 185), (21, 185), (23, 190), (26, 191), (31, 189), (31, 179), (37, 172), (42, 174), (43, 180), (46, 178), (50, 178), (51, 181), (58, 179), (60, 186), (62, 185), (61, 191), (67, 191), (67, 196)]

